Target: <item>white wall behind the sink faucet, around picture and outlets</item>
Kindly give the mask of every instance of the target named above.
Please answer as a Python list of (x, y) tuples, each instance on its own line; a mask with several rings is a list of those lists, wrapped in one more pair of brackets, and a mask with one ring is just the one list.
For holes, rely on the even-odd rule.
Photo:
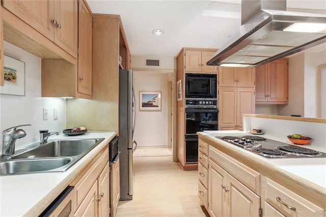
[[(61, 131), (66, 126), (66, 101), (59, 98), (41, 97), (41, 59), (12, 44), (4, 42), (6, 56), (25, 63), (25, 96), (0, 94), (0, 130), (21, 124), (26, 137), (16, 141), (16, 149), (40, 141), (39, 130)], [(6, 63), (5, 63), (6, 65)], [(6, 83), (5, 83), (6, 85)], [(49, 117), (43, 121), (43, 107), (47, 107)], [(53, 120), (53, 108), (58, 108), (58, 119)], [(0, 139), (2, 152), (2, 137)]]

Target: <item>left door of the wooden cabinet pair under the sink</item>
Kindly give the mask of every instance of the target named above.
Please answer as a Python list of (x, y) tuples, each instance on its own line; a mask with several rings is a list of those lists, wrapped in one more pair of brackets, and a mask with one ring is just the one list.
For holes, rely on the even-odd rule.
[(90, 191), (86, 195), (83, 202), (80, 204), (78, 209), (76, 210), (74, 216), (97, 216), (97, 200), (98, 191), (97, 191), (98, 180), (94, 182)]

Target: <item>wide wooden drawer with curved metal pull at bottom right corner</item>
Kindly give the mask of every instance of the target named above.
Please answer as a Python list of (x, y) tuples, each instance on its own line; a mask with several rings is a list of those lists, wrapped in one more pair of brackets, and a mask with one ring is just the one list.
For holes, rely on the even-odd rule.
[(323, 209), (275, 181), (265, 178), (264, 188), (265, 201), (286, 216), (324, 216)]

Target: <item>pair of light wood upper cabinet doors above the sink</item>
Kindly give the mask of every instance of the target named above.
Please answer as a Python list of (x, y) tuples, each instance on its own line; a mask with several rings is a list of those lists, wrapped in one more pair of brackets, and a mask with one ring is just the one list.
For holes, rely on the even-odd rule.
[(3, 6), (77, 58), (77, 1), (4, 0)]

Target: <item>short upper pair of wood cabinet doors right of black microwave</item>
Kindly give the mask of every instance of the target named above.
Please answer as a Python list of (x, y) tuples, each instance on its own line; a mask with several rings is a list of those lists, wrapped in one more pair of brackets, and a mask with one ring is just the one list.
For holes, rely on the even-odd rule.
[(219, 87), (255, 87), (255, 68), (220, 66)]

